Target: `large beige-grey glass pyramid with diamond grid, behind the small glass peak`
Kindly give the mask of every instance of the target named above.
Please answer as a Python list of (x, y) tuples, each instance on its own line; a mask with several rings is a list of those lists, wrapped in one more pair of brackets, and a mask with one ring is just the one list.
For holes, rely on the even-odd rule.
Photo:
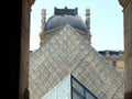
[(99, 99), (123, 99), (123, 78), (68, 24), (31, 54), (29, 69), (30, 99), (41, 99), (68, 74)]

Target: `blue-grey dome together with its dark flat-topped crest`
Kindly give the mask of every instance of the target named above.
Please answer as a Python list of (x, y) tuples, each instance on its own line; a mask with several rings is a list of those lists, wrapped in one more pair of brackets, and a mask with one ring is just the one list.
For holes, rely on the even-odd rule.
[(74, 29), (78, 29), (82, 32), (88, 33), (87, 25), (82, 21), (82, 19), (78, 15), (76, 9), (54, 9), (54, 15), (51, 16), (47, 22), (45, 23), (44, 32), (50, 31), (52, 29), (64, 26), (66, 24), (69, 24)]

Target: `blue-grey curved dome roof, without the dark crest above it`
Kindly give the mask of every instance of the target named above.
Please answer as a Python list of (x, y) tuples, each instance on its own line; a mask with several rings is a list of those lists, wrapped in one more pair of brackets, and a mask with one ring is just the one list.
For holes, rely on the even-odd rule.
[(78, 29), (80, 31), (88, 33), (88, 29), (85, 22), (78, 15), (53, 15), (46, 22), (44, 32), (58, 26), (64, 26), (66, 24), (69, 24), (74, 29)]

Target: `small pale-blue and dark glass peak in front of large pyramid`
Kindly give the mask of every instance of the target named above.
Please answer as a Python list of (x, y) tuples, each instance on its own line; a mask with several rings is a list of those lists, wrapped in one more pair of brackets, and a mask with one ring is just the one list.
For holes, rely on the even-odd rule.
[(42, 99), (98, 99), (91, 91), (81, 85), (73, 75), (66, 76)]

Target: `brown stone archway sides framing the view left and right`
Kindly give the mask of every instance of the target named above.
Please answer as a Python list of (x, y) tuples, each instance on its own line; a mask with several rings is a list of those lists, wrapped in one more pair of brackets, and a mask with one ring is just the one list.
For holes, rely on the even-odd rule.
[[(132, 0), (119, 0), (124, 8), (124, 55), (125, 55), (125, 99), (132, 99)], [(29, 73), (29, 46), (30, 46), (30, 14), (34, 0), (22, 0), (21, 23), (21, 59), (19, 99), (29, 99), (28, 73)]]

